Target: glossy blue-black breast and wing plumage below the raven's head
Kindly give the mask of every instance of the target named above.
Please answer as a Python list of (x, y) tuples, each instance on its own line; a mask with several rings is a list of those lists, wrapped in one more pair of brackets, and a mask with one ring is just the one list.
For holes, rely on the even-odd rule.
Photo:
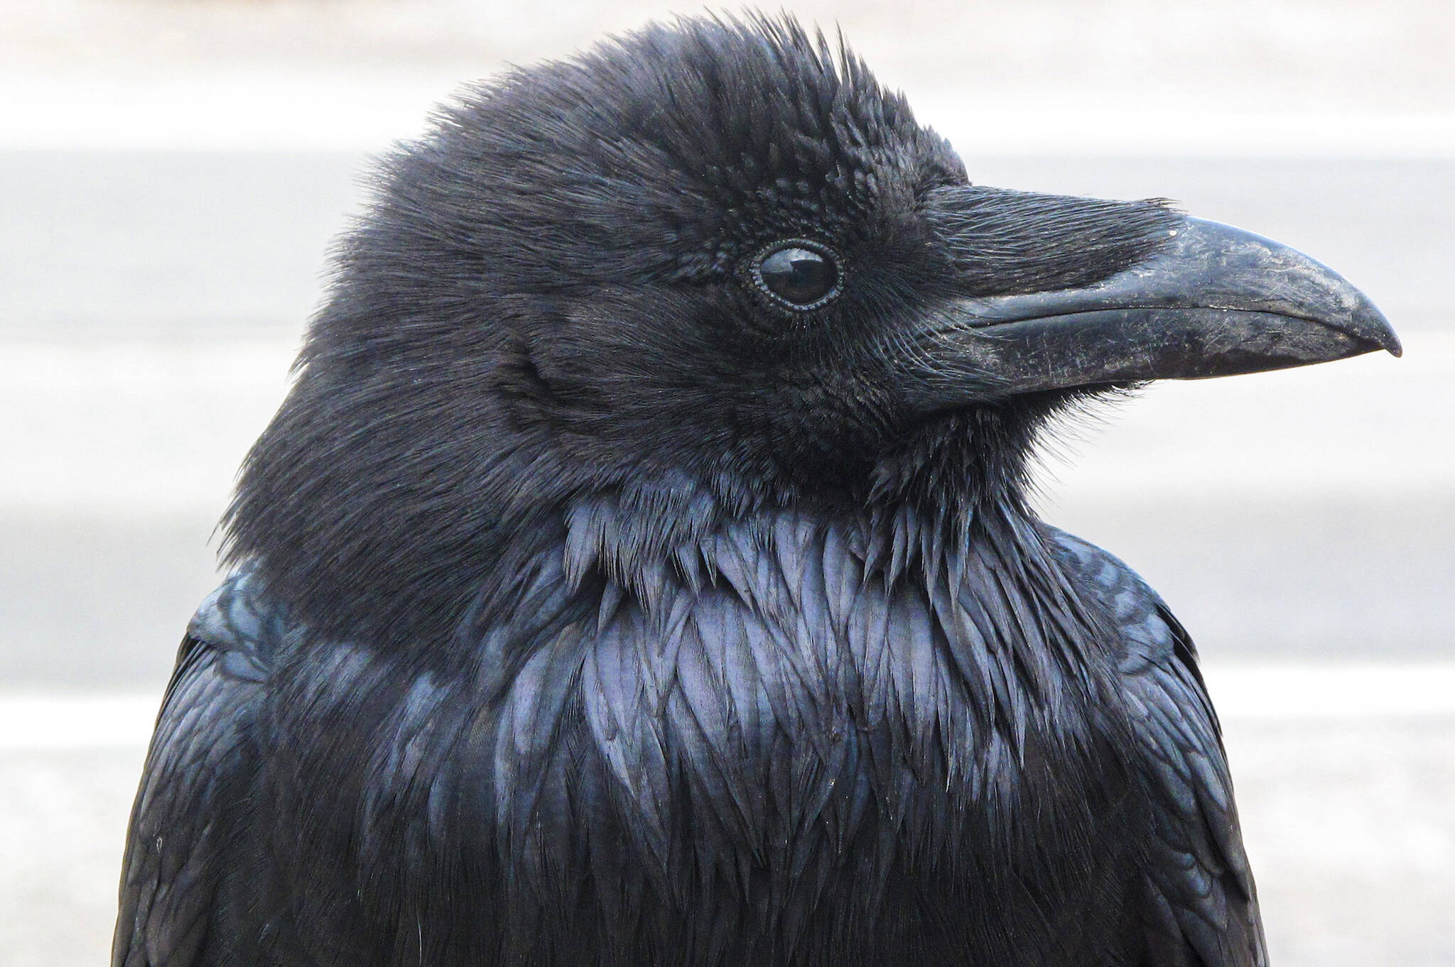
[(1103, 551), (973, 529), (738, 523), (652, 614), (546, 554), (432, 672), (244, 570), (188, 634), (119, 963), (1260, 963), (1181, 630)]

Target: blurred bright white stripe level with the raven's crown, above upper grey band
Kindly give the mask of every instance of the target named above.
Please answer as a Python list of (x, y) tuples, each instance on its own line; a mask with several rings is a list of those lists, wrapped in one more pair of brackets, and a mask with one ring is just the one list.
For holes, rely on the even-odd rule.
[[(418, 137), (470, 79), (274, 70), (146, 79), (0, 74), (0, 150), (380, 151)], [(984, 99), (981, 99), (984, 102)], [(966, 105), (924, 90), (915, 116), (965, 154), (1455, 157), (1451, 112), (1068, 111), (1045, 97)]]

